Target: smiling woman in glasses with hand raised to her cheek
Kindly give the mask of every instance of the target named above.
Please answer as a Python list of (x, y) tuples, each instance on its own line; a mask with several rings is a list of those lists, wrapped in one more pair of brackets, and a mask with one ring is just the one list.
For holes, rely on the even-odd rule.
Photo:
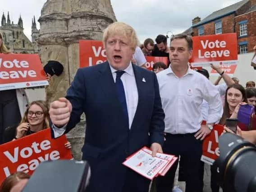
[[(20, 124), (5, 129), (5, 143), (49, 128), (49, 119), (49, 109), (46, 102), (41, 100), (33, 101), (28, 105)], [(68, 142), (65, 147), (71, 148), (71, 144)]]

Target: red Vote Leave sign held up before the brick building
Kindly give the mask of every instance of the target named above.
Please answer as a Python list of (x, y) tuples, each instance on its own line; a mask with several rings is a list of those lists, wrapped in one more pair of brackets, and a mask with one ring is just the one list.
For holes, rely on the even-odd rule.
[(224, 65), (238, 64), (237, 35), (225, 33), (210, 36), (194, 36), (192, 58), (193, 67), (210, 63)]

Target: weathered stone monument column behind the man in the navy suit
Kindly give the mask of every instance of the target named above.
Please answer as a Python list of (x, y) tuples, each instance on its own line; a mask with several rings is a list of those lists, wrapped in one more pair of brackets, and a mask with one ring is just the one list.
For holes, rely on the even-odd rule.
[[(61, 76), (54, 76), (46, 89), (50, 103), (64, 97), (79, 67), (79, 40), (101, 40), (103, 30), (116, 21), (110, 0), (47, 0), (41, 10), (37, 42), (43, 64), (56, 60), (63, 64)], [(81, 158), (85, 119), (67, 136), (73, 155)]]

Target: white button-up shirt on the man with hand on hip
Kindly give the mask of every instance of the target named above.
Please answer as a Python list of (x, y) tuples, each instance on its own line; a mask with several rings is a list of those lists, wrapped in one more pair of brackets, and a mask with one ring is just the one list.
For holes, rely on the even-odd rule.
[(207, 123), (221, 118), (223, 107), (219, 92), (200, 73), (188, 68), (187, 73), (177, 77), (171, 65), (157, 73), (160, 97), (165, 112), (165, 132), (170, 134), (195, 133), (201, 128), (201, 104), (209, 103)]

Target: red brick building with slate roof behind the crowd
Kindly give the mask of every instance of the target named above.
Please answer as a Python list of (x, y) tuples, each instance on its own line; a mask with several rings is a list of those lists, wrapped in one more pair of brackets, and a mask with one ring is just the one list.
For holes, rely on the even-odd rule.
[(237, 33), (238, 54), (253, 51), (256, 45), (256, 0), (242, 0), (220, 9), (201, 20), (192, 20), (192, 27), (184, 31), (192, 36)]

